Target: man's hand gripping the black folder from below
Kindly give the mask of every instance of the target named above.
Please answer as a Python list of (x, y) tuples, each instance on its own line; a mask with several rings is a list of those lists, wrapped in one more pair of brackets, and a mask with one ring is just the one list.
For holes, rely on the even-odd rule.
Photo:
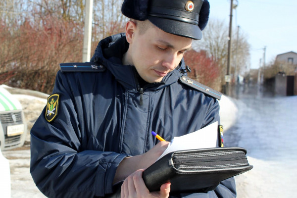
[(160, 191), (149, 192), (142, 178), (144, 170), (137, 170), (122, 184), (121, 198), (168, 198), (170, 183), (161, 186)]

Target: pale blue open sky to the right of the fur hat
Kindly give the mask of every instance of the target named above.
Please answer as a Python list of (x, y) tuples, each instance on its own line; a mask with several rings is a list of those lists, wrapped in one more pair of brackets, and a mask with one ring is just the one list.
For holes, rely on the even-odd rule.
[[(210, 19), (221, 19), (229, 27), (231, 0), (208, 1)], [(266, 65), (277, 54), (297, 52), (297, 0), (238, 0), (232, 21), (233, 30), (240, 26), (247, 35), (251, 69), (259, 68), (260, 59), (263, 64), (265, 47)]]

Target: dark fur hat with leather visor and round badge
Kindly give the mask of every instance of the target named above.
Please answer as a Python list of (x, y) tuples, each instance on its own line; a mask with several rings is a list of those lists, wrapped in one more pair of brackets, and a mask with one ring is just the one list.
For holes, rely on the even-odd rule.
[(195, 40), (202, 32), (209, 17), (208, 0), (124, 0), (122, 13), (132, 19), (148, 19), (170, 34)]

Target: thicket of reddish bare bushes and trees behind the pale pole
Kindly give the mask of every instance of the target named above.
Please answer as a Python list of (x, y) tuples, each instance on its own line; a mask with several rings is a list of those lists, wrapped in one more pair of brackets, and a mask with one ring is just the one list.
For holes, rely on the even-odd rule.
[[(50, 93), (61, 62), (81, 61), (86, 0), (1, 0), (0, 82)], [(93, 47), (123, 31), (123, 0), (94, 0)]]

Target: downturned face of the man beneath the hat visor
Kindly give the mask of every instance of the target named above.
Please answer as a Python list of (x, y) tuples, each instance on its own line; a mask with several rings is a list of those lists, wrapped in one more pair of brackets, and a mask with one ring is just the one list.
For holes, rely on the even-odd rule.
[(131, 64), (148, 83), (160, 82), (191, 46), (192, 39), (166, 33), (154, 25), (142, 34), (136, 28), (129, 46)]

